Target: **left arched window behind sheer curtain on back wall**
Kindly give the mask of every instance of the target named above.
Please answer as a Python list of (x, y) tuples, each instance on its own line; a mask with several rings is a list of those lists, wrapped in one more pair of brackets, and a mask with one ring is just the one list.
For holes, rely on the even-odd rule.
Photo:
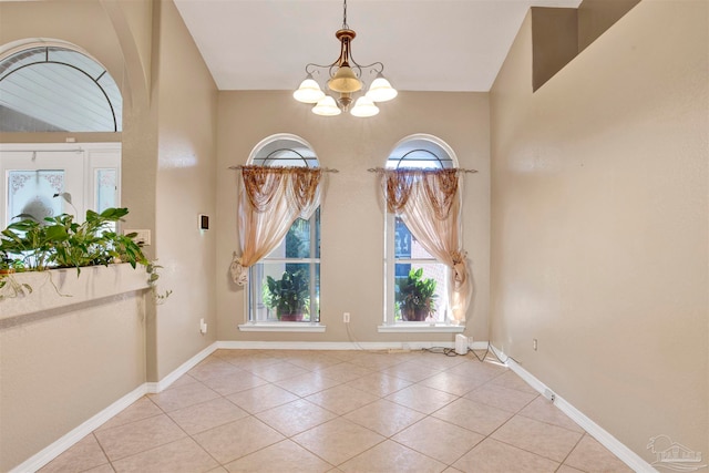
[[(319, 167), (312, 147), (290, 134), (269, 136), (256, 145), (248, 164), (274, 167)], [(249, 268), (248, 321), (250, 323), (320, 321), (320, 208), (309, 219), (298, 218), (284, 240)], [(279, 294), (280, 292), (280, 294)], [(278, 298), (302, 306), (284, 315)]]

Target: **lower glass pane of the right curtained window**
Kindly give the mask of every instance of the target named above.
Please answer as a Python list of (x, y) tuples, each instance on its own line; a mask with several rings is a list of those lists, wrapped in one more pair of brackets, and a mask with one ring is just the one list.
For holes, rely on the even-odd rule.
[(445, 321), (445, 308), (448, 307), (446, 271), (445, 265), (440, 263), (397, 263), (394, 320)]

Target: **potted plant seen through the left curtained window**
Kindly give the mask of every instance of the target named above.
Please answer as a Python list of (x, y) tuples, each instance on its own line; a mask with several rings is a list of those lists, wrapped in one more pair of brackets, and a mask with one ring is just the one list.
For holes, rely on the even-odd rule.
[(284, 271), (279, 280), (266, 276), (264, 304), (281, 321), (300, 321), (310, 310), (310, 287), (304, 270)]

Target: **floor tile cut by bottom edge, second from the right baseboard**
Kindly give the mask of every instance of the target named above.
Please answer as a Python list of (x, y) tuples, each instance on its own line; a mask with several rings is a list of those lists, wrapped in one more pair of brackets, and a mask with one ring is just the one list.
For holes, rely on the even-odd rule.
[(487, 438), (453, 467), (475, 473), (546, 473), (556, 471), (558, 463)]

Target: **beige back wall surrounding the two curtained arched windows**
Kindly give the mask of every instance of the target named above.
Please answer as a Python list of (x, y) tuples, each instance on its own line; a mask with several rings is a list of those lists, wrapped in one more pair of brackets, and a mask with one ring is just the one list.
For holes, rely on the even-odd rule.
[[(237, 177), (227, 167), (245, 164), (258, 142), (292, 133), (310, 143), (331, 175), (322, 205), (321, 322), (326, 333), (239, 332), (244, 290), (228, 279), (236, 233)], [(370, 119), (320, 117), (292, 100), (290, 92), (220, 92), (217, 165), (217, 315), (220, 340), (348, 341), (342, 312), (351, 312), (359, 341), (452, 341), (451, 333), (378, 333), (382, 323), (383, 217), (378, 187), (367, 169), (383, 166), (401, 138), (428, 133), (446, 142), (462, 167), (480, 171), (464, 177), (464, 247), (472, 260), (475, 297), (466, 335), (487, 340), (489, 311), (489, 107), (484, 93), (403, 92)]]

